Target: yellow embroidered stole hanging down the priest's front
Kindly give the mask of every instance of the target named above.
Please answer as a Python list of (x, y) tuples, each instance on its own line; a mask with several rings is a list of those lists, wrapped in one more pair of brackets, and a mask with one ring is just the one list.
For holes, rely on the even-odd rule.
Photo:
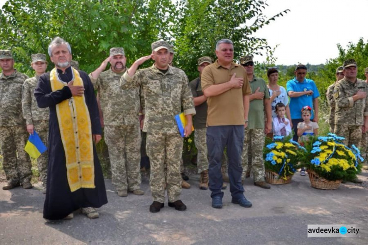
[[(83, 86), (79, 72), (72, 68), (75, 86)], [(56, 68), (50, 73), (51, 89), (67, 85), (59, 79)], [(61, 141), (64, 146), (70, 191), (95, 188), (91, 118), (83, 96), (66, 99), (56, 105)]]

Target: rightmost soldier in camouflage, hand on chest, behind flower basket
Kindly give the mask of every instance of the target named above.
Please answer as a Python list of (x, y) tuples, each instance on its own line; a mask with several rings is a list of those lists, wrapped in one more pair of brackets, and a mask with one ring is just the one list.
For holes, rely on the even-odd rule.
[[(343, 62), (344, 78), (338, 81), (334, 89), (336, 101), (335, 134), (345, 138), (343, 143), (351, 147), (360, 146), (363, 133), (368, 130), (368, 85), (357, 78), (358, 66), (354, 59)], [(358, 178), (354, 183), (362, 183)]]

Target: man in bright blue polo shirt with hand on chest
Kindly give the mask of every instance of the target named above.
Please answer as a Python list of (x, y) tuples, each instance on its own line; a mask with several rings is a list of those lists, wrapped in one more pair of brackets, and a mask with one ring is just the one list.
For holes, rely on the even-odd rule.
[(289, 80), (286, 84), (286, 89), (290, 97), (290, 114), (292, 129), (294, 130), (293, 140), (298, 140), (297, 126), (298, 123), (303, 122), (301, 109), (309, 105), (312, 108), (313, 122), (318, 123), (318, 97), (319, 92), (315, 82), (311, 79), (306, 79), (307, 67), (305, 65), (298, 65), (294, 71), (295, 77)]

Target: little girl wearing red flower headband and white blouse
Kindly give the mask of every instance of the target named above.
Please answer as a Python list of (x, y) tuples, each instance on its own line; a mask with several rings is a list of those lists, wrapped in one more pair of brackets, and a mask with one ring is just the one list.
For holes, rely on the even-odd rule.
[[(318, 135), (318, 123), (311, 121), (312, 116), (312, 108), (309, 105), (306, 105), (302, 108), (301, 111), (303, 122), (298, 123), (298, 142), (309, 141), (310, 136)], [(300, 171), (300, 175), (305, 176), (305, 169), (302, 168)]]

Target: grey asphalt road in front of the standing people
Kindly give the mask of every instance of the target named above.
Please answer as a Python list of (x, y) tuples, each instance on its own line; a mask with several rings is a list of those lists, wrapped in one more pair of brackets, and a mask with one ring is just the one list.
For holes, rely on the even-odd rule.
[[(368, 181), (368, 172), (359, 178)], [(149, 183), (143, 179), (144, 196), (119, 197), (106, 180), (108, 203), (98, 209), (100, 218), (89, 220), (75, 212), (73, 220), (42, 218), (45, 196), (36, 185), (24, 190), (0, 189), (0, 244), (368, 244), (368, 189), (342, 184), (333, 191), (311, 187), (308, 176), (298, 173), (287, 185), (264, 190), (244, 183), (252, 208), (231, 203), (225, 190), (224, 207), (210, 206), (210, 191), (198, 189), (199, 175), (191, 175), (191, 189), (183, 190), (184, 212), (167, 206), (152, 214)], [(0, 182), (2, 187), (5, 182)], [(307, 237), (308, 224), (355, 224), (356, 237)]]

